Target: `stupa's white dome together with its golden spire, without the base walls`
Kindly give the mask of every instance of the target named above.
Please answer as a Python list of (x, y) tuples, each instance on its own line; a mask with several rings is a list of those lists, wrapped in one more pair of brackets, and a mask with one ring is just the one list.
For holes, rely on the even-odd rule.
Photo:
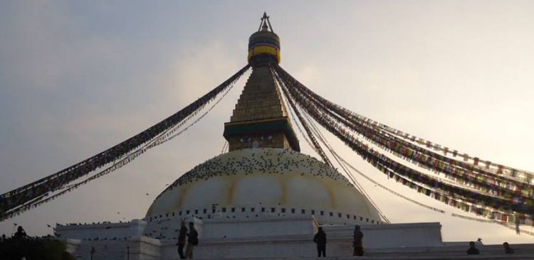
[(224, 124), (229, 153), (182, 175), (156, 198), (146, 217), (177, 212), (202, 219), (299, 215), (328, 224), (383, 222), (377, 209), (342, 174), (299, 153), (269, 67), (280, 62), (280, 39), (268, 18), (262, 21), (248, 41), (252, 73), (230, 121)]

